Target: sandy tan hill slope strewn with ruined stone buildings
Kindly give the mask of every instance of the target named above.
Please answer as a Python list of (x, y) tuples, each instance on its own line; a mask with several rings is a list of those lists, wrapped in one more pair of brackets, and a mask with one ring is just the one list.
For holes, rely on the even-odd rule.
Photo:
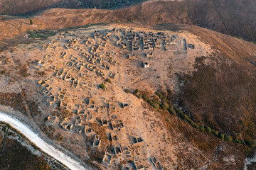
[(118, 25), (58, 32), (1, 52), (1, 104), (95, 169), (240, 169), (245, 145), (157, 108), (167, 98), (176, 104), (172, 95), (186, 85), (177, 75), (193, 75), (196, 58), (212, 64), (218, 49), (206, 41), (188, 30)]

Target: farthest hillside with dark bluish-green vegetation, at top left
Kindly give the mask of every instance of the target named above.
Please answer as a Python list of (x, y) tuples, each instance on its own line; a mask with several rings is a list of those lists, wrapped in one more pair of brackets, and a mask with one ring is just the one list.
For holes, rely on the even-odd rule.
[(120, 8), (142, 2), (143, 0), (1, 0), (0, 13), (28, 16), (47, 8)]

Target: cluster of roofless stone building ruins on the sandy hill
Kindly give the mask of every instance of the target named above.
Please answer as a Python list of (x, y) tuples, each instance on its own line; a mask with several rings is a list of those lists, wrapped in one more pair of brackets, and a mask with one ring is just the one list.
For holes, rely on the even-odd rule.
[[(64, 119), (51, 115), (48, 124), (58, 124), (65, 131), (84, 135), (92, 140), (91, 147), (100, 149), (102, 136), (95, 130), (94, 124), (97, 123), (105, 129), (107, 140), (112, 144), (102, 159), (104, 164), (111, 166), (113, 162), (122, 161), (122, 169), (145, 169), (142, 162), (134, 159), (137, 153), (131, 150), (144, 145), (144, 139), (125, 132), (123, 121), (114, 115), (129, 108), (129, 103), (113, 101), (107, 96), (95, 97), (95, 94), (102, 91), (99, 88), (102, 81), (117, 77), (119, 56), (111, 50), (113, 47), (127, 50), (131, 59), (137, 57), (137, 52), (145, 51), (143, 67), (149, 68), (146, 59), (154, 57), (154, 50), (165, 50), (174, 40), (162, 32), (136, 32), (124, 28), (72, 35), (72, 38), (59, 35), (57, 40), (43, 47), (49, 54), (38, 61), (37, 69), (50, 70), (51, 74), (38, 84), (50, 106), (71, 115)], [(124, 138), (128, 139), (125, 144), (122, 142)], [(154, 161), (154, 164), (161, 167), (159, 162)]]

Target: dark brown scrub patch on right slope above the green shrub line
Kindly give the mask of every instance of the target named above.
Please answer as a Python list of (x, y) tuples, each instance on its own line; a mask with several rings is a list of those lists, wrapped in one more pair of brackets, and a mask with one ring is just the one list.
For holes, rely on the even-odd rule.
[[(181, 75), (180, 80), (184, 82), (184, 86), (181, 87), (181, 106), (188, 108), (191, 111), (190, 115), (200, 118), (202, 124), (206, 125), (206, 131), (209, 132), (211, 128), (215, 135), (221, 131), (233, 138), (244, 138), (248, 141), (247, 145), (251, 146), (250, 143), (256, 136), (255, 116), (251, 117), (256, 106), (255, 86), (252, 86), (256, 80), (235, 62), (227, 64), (227, 61), (220, 57), (221, 64), (216, 69), (210, 64), (204, 64), (204, 60), (205, 57), (196, 59), (197, 71), (193, 72), (193, 75)], [(243, 100), (244, 97), (247, 99)], [(232, 118), (229, 115), (232, 115)], [(244, 118), (238, 123), (237, 118), (240, 116)], [(247, 119), (249, 117), (250, 119)], [(238, 134), (242, 134), (242, 137)], [(222, 133), (218, 136), (224, 139)], [(225, 137), (225, 140), (230, 141), (230, 137)]]

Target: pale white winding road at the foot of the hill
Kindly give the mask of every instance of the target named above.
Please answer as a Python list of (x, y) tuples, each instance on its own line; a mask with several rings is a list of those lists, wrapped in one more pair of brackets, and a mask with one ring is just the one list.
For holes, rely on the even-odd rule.
[(28, 140), (30, 140), (34, 145), (39, 147), (43, 152), (50, 155), (54, 159), (58, 160), (65, 166), (67, 166), (71, 170), (84, 170), (85, 167), (82, 166), (79, 162), (75, 161), (75, 159), (69, 157), (68, 155), (61, 152), (59, 149), (56, 149), (52, 145), (48, 144), (41, 137), (38, 136), (28, 125), (21, 123), (17, 118), (12, 117), (11, 115), (7, 115), (5, 113), (0, 112), (0, 121), (4, 123), (9, 123), (12, 128), (15, 128), (21, 134), (26, 136)]

